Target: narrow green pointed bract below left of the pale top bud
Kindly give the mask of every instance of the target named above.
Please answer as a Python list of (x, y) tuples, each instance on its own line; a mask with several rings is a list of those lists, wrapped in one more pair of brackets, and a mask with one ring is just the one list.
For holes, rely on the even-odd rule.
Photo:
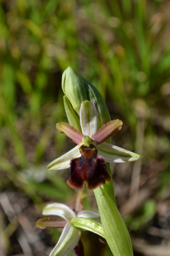
[(64, 101), (64, 109), (66, 111), (66, 116), (68, 119), (68, 123), (71, 124), (74, 128), (76, 128), (79, 132), (82, 132), (82, 128), (80, 126), (80, 121), (78, 117), (76, 116), (76, 113), (74, 109), (72, 108), (72, 105), (69, 101), (69, 99), (64, 95), (63, 97)]

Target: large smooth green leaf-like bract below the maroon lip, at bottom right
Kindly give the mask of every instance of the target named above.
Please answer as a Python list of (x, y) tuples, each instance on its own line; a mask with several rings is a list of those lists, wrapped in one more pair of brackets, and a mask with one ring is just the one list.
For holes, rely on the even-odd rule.
[(100, 186), (94, 189), (102, 221), (104, 238), (114, 256), (133, 256), (133, 249), (127, 227), (116, 205)]

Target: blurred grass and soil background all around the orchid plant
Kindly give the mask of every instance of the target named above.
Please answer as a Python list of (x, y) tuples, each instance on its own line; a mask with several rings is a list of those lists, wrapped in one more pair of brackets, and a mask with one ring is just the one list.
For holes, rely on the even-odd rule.
[(112, 142), (141, 154), (111, 166), (135, 255), (170, 255), (169, 10), (166, 0), (0, 1), (0, 255), (48, 255), (59, 233), (35, 227), (43, 203), (74, 196), (67, 170), (46, 170), (72, 146), (55, 130), (67, 121), (68, 65), (123, 121)]

